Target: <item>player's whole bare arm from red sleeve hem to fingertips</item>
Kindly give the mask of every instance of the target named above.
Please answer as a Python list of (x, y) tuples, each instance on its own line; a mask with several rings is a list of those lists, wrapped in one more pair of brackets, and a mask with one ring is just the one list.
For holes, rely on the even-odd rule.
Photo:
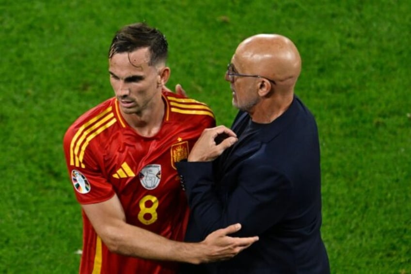
[(212, 232), (203, 242), (172, 241), (127, 224), (117, 195), (82, 208), (109, 250), (126, 256), (198, 264), (232, 258), (258, 240), (258, 237), (227, 236), (241, 228), (236, 224)]

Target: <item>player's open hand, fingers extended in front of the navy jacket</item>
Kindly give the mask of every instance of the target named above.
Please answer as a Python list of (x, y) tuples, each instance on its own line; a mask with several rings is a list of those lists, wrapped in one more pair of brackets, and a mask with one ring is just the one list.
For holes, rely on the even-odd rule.
[(200, 242), (200, 245), (202, 245), (205, 252), (201, 263), (233, 258), (239, 252), (258, 241), (258, 236), (247, 238), (227, 236), (240, 229), (241, 225), (235, 224), (208, 234), (205, 240)]

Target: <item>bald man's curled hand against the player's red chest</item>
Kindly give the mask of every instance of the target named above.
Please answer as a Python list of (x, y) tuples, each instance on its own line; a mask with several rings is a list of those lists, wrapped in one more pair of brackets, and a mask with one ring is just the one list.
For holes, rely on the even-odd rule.
[(236, 133), (227, 127), (205, 129), (191, 149), (187, 161), (213, 161), (237, 141)]

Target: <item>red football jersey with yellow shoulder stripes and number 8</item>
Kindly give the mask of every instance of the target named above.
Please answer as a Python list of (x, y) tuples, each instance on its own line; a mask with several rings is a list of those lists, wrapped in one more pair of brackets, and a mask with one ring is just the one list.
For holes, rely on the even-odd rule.
[[(125, 122), (115, 97), (80, 116), (64, 136), (64, 153), (80, 204), (117, 194), (127, 223), (183, 241), (188, 205), (175, 162), (187, 158), (205, 128), (215, 126), (212, 111), (194, 99), (162, 94), (163, 124), (142, 137)], [(111, 253), (83, 214), (80, 274), (174, 274), (178, 264)]]

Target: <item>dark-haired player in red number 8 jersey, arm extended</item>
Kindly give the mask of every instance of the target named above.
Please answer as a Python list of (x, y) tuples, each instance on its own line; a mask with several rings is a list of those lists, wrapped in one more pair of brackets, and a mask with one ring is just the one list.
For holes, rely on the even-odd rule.
[(188, 206), (175, 163), (215, 125), (204, 103), (166, 91), (167, 41), (137, 23), (114, 36), (109, 51), (112, 97), (81, 115), (64, 136), (65, 159), (81, 204), (80, 274), (174, 274), (177, 262), (231, 258), (257, 237), (203, 242), (184, 238)]

